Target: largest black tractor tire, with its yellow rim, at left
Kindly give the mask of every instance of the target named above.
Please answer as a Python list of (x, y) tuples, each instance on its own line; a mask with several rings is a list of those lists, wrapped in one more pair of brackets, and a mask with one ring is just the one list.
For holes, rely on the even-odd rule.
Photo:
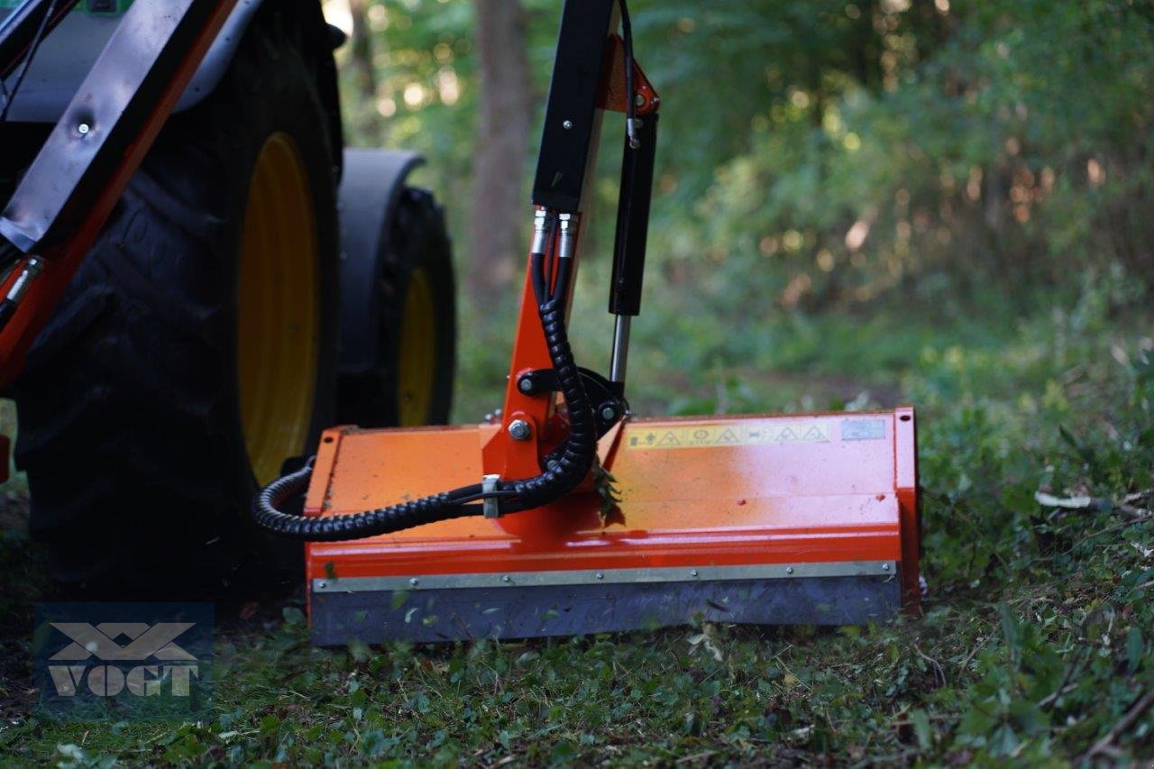
[(66, 585), (227, 595), (238, 562), (301, 562), (247, 515), (336, 401), (335, 142), (283, 8), (170, 120), (17, 383), (31, 530)]

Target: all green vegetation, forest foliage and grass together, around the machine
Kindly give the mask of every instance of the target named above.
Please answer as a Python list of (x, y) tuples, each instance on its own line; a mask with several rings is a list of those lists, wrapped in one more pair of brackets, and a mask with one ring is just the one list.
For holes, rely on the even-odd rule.
[[(634, 405), (914, 403), (924, 615), (321, 650), (290, 602), (224, 626), (211, 721), (55, 724), (28, 716), (27, 628), (44, 585), (36, 551), (8, 532), (0, 755), (63, 766), (1154, 755), (1149, 6), (630, 5), (665, 113)], [(523, 6), (544, 92), (556, 3)], [(472, 5), (388, 0), (369, 3), (368, 20), (380, 98), (350, 91), (360, 99), (350, 130), (428, 154), (425, 181), (448, 201), (467, 257)], [(574, 322), (578, 359), (594, 368), (609, 341), (612, 122)], [(457, 416), (470, 421), (499, 405), (512, 307), (464, 299)]]

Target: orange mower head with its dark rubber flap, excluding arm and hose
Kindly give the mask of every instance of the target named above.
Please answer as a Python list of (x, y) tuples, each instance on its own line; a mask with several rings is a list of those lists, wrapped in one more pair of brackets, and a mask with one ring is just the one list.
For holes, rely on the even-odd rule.
[[(337, 427), (308, 515), (475, 484), (495, 426)], [(313, 640), (448, 641), (698, 620), (840, 625), (915, 607), (914, 412), (639, 419), (602, 439), (621, 502), (579, 492), (307, 547)]]

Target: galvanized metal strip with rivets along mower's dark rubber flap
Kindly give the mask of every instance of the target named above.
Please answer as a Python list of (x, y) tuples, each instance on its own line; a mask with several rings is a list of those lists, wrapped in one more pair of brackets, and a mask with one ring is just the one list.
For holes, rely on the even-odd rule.
[(894, 561), (830, 561), (750, 566), (685, 566), (564, 572), (494, 572), (492, 574), (414, 574), (412, 576), (313, 580), (314, 592), (367, 590), (459, 590), (463, 588), (535, 588), (567, 584), (630, 584), (792, 580), (800, 577), (885, 576), (897, 574)]

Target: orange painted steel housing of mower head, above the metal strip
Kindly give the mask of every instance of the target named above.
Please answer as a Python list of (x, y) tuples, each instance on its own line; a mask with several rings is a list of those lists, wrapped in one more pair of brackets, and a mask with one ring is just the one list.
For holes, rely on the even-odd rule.
[[(864, 426), (864, 428), (863, 428)], [(343, 515), (477, 483), (495, 426), (325, 432), (307, 515)], [(728, 432), (727, 432), (728, 431)], [(313, 578), (897, 561), (915, 607), (913, 409), (639, 419), (604, 451), (622, 501), (575, 493), (527, 514), (307, 546)], [(703, 446), (692, 436), (704, 435)], [(682, 443), (669, 447), (669, 436)], [(662, 445), (665, 440), (666, 445)], [(733, 441), (737, 442), (733, 442)], [(509, 524), (530, 516), (533, 525)]]

